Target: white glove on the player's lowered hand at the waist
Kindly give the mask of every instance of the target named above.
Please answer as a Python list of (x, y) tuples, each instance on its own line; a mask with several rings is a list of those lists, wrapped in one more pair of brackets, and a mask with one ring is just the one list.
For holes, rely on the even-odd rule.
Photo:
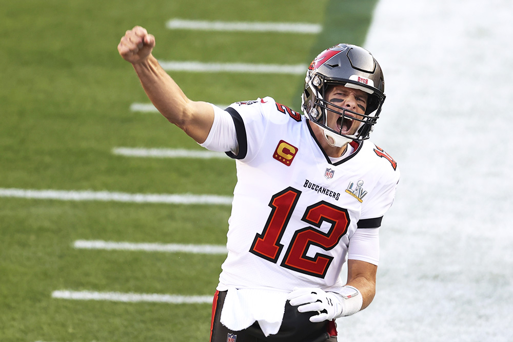
[[(287, 299), (290, 305), (299, 306), (299, 312), (317, 311), (319, 314), (310, 317), (312, 323), (349, 316), (362, 308), (362, 294), (352, 286), (344, 286), (343, 292), (325, 292), (319, 288), (295, 288)], [(349, 294), (349, 292), (351, 292)]]

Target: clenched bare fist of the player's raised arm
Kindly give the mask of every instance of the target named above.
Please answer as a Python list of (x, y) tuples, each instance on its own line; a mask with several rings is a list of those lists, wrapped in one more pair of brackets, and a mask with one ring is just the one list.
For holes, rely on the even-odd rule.
[(120, 44), (117, 45), (117, 51), (126, 61), (137, 64), (143, 62), (151, 54), (154, 46), (155, 37), (148, 34), (145, 28), (135, 26), (126, 31)]

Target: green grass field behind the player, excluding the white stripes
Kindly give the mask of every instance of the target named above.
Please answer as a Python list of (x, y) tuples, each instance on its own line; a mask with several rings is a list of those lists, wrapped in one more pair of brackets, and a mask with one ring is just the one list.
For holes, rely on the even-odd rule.
[[(161, 60), (305, 64), (362, 44), (375, 0), (23, 1), (0, 11), (0, 188), (230, 196), (230, 159), (130, 158), (201, 148), (155, 113), (116, 47), (141, 25)], [(168, 30), (171, 18), (322, 24), (319, 34)], [(347, 19), (345, 19), (347, 18)], [(302, 75), (175, 72), (194, 100), (262, 96), (299, 111)], [(81, 250), (75, 240), (224, 245), (230, 207), (0, 197), (0, 341), (206, 341), (209, 304), (52, 298), (56, 290), (213, 295), (223, 255)]]

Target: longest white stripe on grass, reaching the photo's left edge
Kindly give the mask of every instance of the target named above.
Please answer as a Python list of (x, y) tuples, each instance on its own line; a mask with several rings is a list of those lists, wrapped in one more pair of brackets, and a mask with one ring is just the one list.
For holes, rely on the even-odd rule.
[(0, 197), (103, 202), (231, 205), (232, 197), (218, 195), (138, 194), (109, 191), (64, 191), (0, 188)]

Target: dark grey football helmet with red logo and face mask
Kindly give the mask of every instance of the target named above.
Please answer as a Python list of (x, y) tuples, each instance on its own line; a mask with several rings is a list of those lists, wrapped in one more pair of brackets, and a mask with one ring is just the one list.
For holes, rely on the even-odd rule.
[[(325, 95), (328, 87), (333, 85), (366, 92), (368, 99), (365, 114), (329, 103)], [(309, 120), (321, 127), (331, 146), (342, 147), (352, 140), (369, 138), (385, 100), (384, 88), (381, 67), (369, 51), (356, 45), (339, 44), (321, 52), (308, 67), (301, 109)], [(337, 108), (337, 111), (329, 109), (328, 104), (331, 108)], [(329, 127), (326, 116), (328, 111), (339, 115), (339, 120), (359, 121), (357, 130), (344, 134), (342, 127), (339, 130)]]

